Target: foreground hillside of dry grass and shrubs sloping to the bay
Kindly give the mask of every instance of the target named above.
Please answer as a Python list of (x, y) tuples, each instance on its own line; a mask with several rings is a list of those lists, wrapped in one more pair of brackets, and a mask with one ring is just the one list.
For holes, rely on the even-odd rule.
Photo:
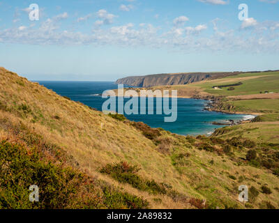
[[(279, 207), (278, 145), (152, 129), (4, 68), (0, 87), (1, 208)], [(239, 185), (252, 188), (250, 202), (238, 201)]]

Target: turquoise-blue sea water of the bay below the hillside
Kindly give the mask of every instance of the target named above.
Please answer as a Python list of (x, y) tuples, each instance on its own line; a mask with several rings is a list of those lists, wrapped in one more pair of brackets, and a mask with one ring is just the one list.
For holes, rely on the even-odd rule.
[[(98, 94), (110, 89), (117, 89), (114, 82), (39, 82), (47, 89), (52, 89), (59, 95), (67, 96), (71, 100), (80, 101), (85, 105), (101, 111), (103, 99)], [(128, 99), (127, 99), (128, 100)], [(126, 102), (127, 100), (124, 100)], [(139, 103), (140, 105), (140, 103)], [(147, 105), (147, 103), (146, 103)], [(205, 100), (178, 98), (177, 120), (174, 123), (165, 123), (165, 114), (156, 114), (156, 98), (154, 98), (153, 115), (127, 115), (131, 121), (142, 121), (153, 128), (164, 128), (177, 134), (211, 134), (216, 128), (223, 126), (212, 125), (211, 122), (225, 122), (229, 119), (239, 121), (245, 115), (223, 114), (220, 112), (208, 112), (204, 110)]]

